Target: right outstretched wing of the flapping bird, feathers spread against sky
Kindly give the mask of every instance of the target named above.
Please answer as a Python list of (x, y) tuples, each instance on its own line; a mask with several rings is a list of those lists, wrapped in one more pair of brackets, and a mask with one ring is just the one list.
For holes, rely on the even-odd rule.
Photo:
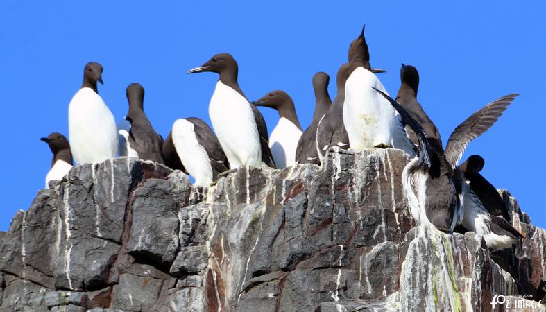
[(486, 132), (516, 96), (518, 94), (509, 94), (489, 103), (455, 128), (445, 147), (445, 160), (451, 168), (457, 168), (470, 141)]

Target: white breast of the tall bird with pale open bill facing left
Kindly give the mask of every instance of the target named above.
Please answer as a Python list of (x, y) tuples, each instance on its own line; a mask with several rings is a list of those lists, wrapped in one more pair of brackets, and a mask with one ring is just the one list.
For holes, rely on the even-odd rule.
[(210, 121), (231, 168), (262, 164), (259, 134), (250, 105), (232, 87), (221, 81), (216, 83), (209, 105)]

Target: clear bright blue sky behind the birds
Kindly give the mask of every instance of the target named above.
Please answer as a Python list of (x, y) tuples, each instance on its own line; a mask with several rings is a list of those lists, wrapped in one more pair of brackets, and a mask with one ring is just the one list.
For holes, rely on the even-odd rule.
[[(463, 159), (482, 155), (488, 180), (546, 227), (541, 1), (183, 2), (0, 2), (1, 230), (43, 187), (51, 152), (39, 138), (67, 134), (68, 103), (85, 63), (103, 64), (99, 94), (117, 119), (126, 114), (126, 87), (141, 83), (146, 113), (165, 136), (177, 118), (209, 121), (217, 76), (186, 71), (229, 52), (250, 100), (284, 89), (307, 126), (313, 74), (330, 74), (333, 97), (336, 69), (364, 23), (372, 65), (389, 71), (379, 78), (391, 94), (400, 87), (400, 62), (418, 68), (418, 98), (445, 141), (479, 107), (521, 94)], [(277, 115), (262, 112), (271, 131)]]

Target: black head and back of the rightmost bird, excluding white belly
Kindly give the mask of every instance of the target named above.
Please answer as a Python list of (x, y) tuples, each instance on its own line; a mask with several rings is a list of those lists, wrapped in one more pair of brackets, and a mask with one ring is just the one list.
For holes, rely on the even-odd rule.
[(490, 184), (486, 178), (479, 172), (484, 168), (485, 160), (479, 155), (472, 155), (463, 162), (459, 169), (463, 172), (470, 188), (478, 196), (480, 202), (487, 211), (493, 216), (502, 216), (506, 221), (511, 220), (509, 211), (504, 204), (504, 200), (493, 184)]

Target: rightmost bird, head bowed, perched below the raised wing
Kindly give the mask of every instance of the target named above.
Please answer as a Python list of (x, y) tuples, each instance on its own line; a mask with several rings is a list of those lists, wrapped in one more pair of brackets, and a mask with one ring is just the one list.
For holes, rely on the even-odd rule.
[(467, 180), (463, 185), (462, 225), (484, 236), (490, 250), (503, 250), (520, 241), (522, 234), (510, 224), (508, 209), (497, 189), (479, 174), (484, 164), (481, 156), (472, 155), (459, 166)]

